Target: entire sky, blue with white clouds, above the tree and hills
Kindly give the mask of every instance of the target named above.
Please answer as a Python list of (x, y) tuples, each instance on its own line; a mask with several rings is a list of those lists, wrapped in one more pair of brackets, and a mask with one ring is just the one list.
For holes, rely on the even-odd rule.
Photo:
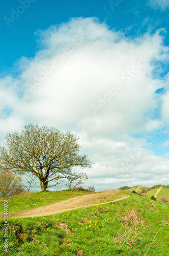
[(0, 8), (2, 143), (26, 123), (57, 126), (78, 134), (96, 163), (87, 185), (168, 184), (169, 1)]

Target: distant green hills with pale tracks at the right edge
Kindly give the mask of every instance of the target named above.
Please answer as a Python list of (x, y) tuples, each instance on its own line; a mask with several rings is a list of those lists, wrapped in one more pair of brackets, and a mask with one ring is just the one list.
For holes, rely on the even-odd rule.
[(141, 194), (143, 197), (151, 198), (151, 196), (154, 196), (157, 199), (157, 201), (169, 203), (169, 186), (158, 184), (152, 187), (145, 187), (139, 185), (126, 188), (125, 190), (130, 192), (134, 190), (137, 194)]

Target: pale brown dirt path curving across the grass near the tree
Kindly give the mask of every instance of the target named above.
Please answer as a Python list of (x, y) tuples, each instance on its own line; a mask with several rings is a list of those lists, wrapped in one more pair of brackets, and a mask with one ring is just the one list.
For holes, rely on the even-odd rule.
[[(74, 209), (92, 206), (92, 205), (100, 205), (100, 204), (105, 204), (110, 202), (116, 202), (116, 201), (123, 200), (125, 198), (130, 197), (130, 196), (121, 195), (120, 198), (114, 200), (113, 197), (117, 198), (116, 195), (119, 193), (120, 193), (119, 189), (105, 190), (97, 194), (73, 197), (64, 201), (40, 206), (30, 210), (14, 212), (14, 214), (9, 215), (9, 217), (10, 218), (26, 218), (26, 217), (55, 215), (63, 211), (74, 210)], [(112, 198), (112, 200), (109, 202), (106, 202), (106, 199), (108, 198), (110, 200)]]

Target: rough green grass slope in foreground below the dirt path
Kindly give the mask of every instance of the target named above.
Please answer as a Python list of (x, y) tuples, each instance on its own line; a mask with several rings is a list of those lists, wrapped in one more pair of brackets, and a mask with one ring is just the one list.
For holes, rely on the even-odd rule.
[[(116, 203), (56, 216), (9, 219), (9, 253), (4, 252), (3, 244), (0, 253), (2, 256), (166, 256), (168, 217), (168, 204), (133, 195)], [(3, 241), (3, 220), (0, 224)]]

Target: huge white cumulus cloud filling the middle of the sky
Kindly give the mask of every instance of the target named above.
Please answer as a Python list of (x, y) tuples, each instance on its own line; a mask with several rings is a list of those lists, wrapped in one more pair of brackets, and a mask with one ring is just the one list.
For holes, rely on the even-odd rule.
[[(131, 39), (96, 18), (73, 18), (36, 34), (42, 50), (20, 59), (18, 77), (1, 79), (2, 138), (6, 123), (11, 131), (30, 122), (57, 126), (79, 134), (82, 151), (96, 162), (89, 185), (152, 184), (159, 169), (162, 180), (168, 159), (150, 150), (138, 161), (130, 157), (144, 149), (131, 135), (160, 127), (155, 110), (168, 90), (157, 69), (168, 58), (161, 31)], [(165, 95), (156, 94), (162, 87)]]

